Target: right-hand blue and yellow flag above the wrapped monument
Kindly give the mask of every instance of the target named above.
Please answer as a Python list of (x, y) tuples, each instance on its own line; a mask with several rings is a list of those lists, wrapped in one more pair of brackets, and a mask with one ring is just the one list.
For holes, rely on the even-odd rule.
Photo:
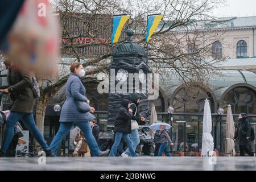
[(160, 20), (163, 18), (164, 15), (148, 15), (147, 16), (147, 34), (146, 34), (146, 42), (147, 44), (150, 41), (151, 35), (154, 33)]

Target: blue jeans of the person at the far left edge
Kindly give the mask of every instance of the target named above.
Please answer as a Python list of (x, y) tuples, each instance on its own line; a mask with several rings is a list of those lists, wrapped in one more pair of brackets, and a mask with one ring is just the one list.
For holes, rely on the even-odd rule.
[(1, 151), (3, 153), (6, 153), (11, 143), (11, 140), (13, 139), (13, 136), (14, 136), (14, 127), (16, 123), (20, 120), (22, 120), (26, 128), (30, 130), (30, 133), (35, 138), (35, 140), (40, 144), (43, 150), (49, 150), (50, 148), (46, 143), (46, 140), (44, 140), (43, 134), (35, 125), (35, 121), (32, 113), (27, 114), (27, 113), (19, 113), (19, 112), (11, 111), (9, 117), (7, 117), (7, 120), (6, 120), (6, 130), (5, 130), (5, 136), (3, 137), (3, 145), (1, 147)]

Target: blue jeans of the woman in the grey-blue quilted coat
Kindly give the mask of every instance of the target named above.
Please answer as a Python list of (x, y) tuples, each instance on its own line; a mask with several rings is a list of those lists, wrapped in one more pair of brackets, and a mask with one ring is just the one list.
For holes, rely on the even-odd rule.
[(52, 152), (55, 155), (57, 154), (57, 150), (60, 147), (60, 144), (61, 144), (62, 140), (66, 137), (68, 132), (72, 129), (72, 126), (74, 125), (74, 123), (84, 133), (84, 137), (85, 137), (86, 142), (88, 143), (88, 146), (90, 148), (90, 154), (92, 156), (100, 155), (101, 151), (100, 151), (100, 148), (98, 147), (98, 144), (97, 144), (95, 138), (93, 137), (92, 127), (90, 127), (89, 121), (85, 121), (85, 122), (61, 122), (60, 123), (60, 128), (59, 128), (57, 134), (55, 135), (55, 137), (53, 138), (53, 140), (51, 142), (51, 145), (50, 145), (50, 148), (51, 148)]

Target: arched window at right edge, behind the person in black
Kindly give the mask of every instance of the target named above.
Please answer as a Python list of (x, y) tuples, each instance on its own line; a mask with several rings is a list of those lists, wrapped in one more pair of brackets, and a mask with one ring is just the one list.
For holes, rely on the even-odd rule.
[(226, 111), (228, 105), (232, 106), (233, 114), (256, 113), (256, 92), (246, 86), (239, 86), (230, 90), (223, 101), (223, 109)]

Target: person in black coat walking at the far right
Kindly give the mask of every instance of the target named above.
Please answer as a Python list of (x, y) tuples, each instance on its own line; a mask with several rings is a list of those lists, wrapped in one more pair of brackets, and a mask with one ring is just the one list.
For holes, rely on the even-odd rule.
[(234, 140), (238, 139), (240, 156), (245, 156), (245, 152), (250, 156), (255, 156), (254, 152), (249, 149), (249, 139), (251, 135), (250, 122), (247, 120), (248, 115), (241, 113), (238, 115), (238, 127), (234, 136)]

